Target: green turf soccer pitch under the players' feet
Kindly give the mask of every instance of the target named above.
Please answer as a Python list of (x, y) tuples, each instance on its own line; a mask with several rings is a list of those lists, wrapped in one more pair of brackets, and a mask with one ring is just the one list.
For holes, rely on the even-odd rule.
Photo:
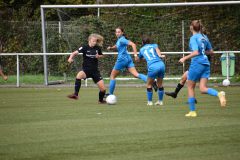
[(186, 118), (186, 88), (160, 107), (146, 106), (145, 88), (117, 88), (113, 106), (96, 88), (77, 101), (72, 88), (0, 88), (0, 159), (237, 160), (240, 87), (217, 89), (227, 108), (197, 89), (198, 117)]

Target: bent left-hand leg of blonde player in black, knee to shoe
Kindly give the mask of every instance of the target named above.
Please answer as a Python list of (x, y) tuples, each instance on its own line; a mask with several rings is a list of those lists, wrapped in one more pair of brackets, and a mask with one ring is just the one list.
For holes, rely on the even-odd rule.
[(87, 78), (87, 76), (84, 71), (78, 72), (76, 79), (75, 79), (74, 93), (69, 95), (68, 98), (78, 99), (78, 93), (81, 88), (81, 79), (85, 79), (85, 78)]

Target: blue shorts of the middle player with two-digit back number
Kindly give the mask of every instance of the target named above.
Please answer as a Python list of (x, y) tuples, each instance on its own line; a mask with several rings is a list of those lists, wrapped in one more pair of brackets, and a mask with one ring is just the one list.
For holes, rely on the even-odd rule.
[(148, 67), (148, 77), (155, 79), (155, 78), (164, 78), (165, 74), (165, 65), (162, 61), (156, 62), (151, 64)]

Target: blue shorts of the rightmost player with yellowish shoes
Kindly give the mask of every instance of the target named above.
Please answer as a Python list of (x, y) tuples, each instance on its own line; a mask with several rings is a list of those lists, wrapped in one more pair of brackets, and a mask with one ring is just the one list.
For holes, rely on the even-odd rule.
[(197, 82), (201, 78), (210, 77), (210, 66), (204, 64), (191, 64), (188, 71), (188, 80)]

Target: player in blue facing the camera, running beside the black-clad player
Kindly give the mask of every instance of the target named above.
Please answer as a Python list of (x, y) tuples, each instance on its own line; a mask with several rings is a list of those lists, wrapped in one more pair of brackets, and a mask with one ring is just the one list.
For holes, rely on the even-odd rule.
[[(127, 46), (131, 46), (134, 52), (134, 55), (137, 56), (137, 48), (135, 43), (132, 41), (126, 39), (124, 36), (124, 29), (121, 27), (116, 28), (115, 32), (118, 40), (116, 44), (112, 47), (108, 47), (107, 49), (117, 49), (118, 51), (118, 57), (117, 62), (115, 63), (115, 66), (111, 72), (110, 75), (110, 84), (109, 84), (109, 94), (113, 94), (116, 86), (116, 77), (119, 75), (120, 71), (127, 68), (128, 71), (136, 78), (139, 78), (143, 80), (144, 82), (147, 82), (147, 76), (144, 74), (140, 74), (137, 72), (134, 63), (132, 61), (131, 56), (129, 55), (127, 51)], [(136, 59), (137, 57), (135, 57)], [(156, 85), (154, 86), (155, 88)]]

